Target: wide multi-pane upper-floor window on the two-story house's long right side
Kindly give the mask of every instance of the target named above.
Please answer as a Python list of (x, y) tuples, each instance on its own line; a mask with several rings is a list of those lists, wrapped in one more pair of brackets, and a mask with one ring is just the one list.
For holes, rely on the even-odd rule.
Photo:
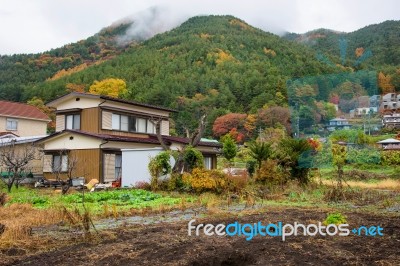
[(155, 133), (155, 126), (149, 119), (121, 114), (112, 114), (112, 129), (128, 132)]

